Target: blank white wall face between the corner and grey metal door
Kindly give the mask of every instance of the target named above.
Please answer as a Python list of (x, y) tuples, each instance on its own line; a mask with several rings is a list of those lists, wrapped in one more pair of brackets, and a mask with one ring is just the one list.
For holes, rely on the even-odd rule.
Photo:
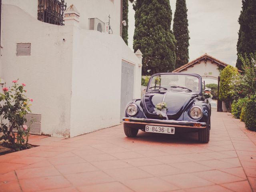
[(70, 136), (119, 124), (122, 39), (75, 28)]

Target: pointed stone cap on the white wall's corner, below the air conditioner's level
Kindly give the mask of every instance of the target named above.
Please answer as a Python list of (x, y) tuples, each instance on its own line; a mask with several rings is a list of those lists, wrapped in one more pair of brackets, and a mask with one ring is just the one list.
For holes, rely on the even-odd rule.
[(64, 12), (64, 21), (66, 26), (78, 26), (80, 14), (72, 4)]

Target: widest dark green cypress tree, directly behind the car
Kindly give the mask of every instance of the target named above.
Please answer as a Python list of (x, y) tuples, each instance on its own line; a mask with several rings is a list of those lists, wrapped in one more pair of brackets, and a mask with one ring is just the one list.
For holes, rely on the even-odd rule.
[[(133, 0), (130, 0), (133, 2)], [(175, 43), (170, 29), (172, 11), (169, 0), (136, 0), (134, 50), (143, 53), (142, 74), (172, 72), (175, 65)]]

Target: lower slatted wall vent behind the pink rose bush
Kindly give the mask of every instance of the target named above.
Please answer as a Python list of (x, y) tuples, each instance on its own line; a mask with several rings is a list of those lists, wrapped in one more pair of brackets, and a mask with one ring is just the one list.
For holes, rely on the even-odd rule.
[[(30, 127), (30, 133), (31, 134), (36, 134), (36, 135), (41, 135), (41, 120), (42, 120), (42, 115), (40, 114), (26, 114), (26, 119), (27, 122), (24, 123), (28, 127)], [(32, 123), (31, 123), (32, 122)], [(10, 128), (9, 124), (9, 128)], [(17, 132), (17, 129), (13, 129), (14, 132)]]

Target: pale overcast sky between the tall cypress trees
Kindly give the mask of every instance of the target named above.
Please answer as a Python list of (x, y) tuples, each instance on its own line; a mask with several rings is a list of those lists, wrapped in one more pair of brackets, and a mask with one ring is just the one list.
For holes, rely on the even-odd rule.
[[(238, 17), (242, 0), (186, 0), (188, 9), (189, 61), (207, 53), (227, 64), (236, 65)], [(172, 22), (176, 0), (170, 0)], [(129, 2), (128, 46), (132, 49), (134, 10)], [(143, 54), (143, 53), (142, 53)]]

